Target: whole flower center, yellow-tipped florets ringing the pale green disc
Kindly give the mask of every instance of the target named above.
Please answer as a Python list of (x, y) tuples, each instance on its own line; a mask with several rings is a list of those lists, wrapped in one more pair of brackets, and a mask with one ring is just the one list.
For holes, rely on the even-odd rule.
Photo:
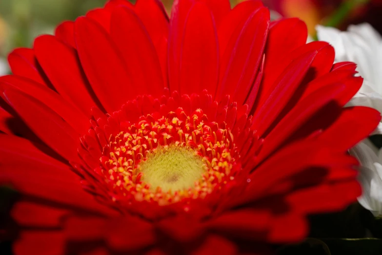
[(107, 136), (101, 173), (114, 201), (167, 205), (204, 198), (240, 169), (231, 132), (209, 122), (201, 109), (147, 114)]

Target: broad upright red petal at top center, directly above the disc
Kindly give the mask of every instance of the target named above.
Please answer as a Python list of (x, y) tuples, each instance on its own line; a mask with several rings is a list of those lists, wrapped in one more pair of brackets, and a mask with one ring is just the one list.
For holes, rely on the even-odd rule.
[(214, 93), (218, 83), (218, 40), (211, 12), (194, 4), (185, 21), (181, 47), (180, 93)]

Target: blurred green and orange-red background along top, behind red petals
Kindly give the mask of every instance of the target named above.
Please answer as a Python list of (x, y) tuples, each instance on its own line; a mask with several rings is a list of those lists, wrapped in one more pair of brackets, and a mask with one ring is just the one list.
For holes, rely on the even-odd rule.
[[(75, 20), (106, 0), (0, 0), (0, 69), (15, 47), (30, 47), (33, 39), (53, 33), (57, 24)], [(131, 0), (135, 2), (135, 0)], [(170, 12), (173, 0), (162, 0)], [(232, 6), (242, 0), (231, 0)], [(369, 22), (381, 32), (382, 0), (263, 0), (284, 17), (299, 17), (315, 36), (318, 23), (346, 29), (350, 23)], [(278, 17), (278, 15), (274, 16)]]

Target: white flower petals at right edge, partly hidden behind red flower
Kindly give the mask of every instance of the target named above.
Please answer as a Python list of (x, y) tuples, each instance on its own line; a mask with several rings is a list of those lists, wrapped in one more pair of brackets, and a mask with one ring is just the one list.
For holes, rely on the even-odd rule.
[[(364, 78), (361, 89), (347, 106), (369, 106), (382, 113), (382, 37), (367, 23), (351, 25), (342, 32), (333, 27), (317, 26), (320, 41), (330, 43), (335, 51), (335, 62), (351, 61), (357, 64)], [(382, 134), (382, 123), (373, 134)], [(382, 214), (382, 153), (369, 140), (350, 150), (362, 167), (360, 182), (363, 193), (360, 204), (374, 213)]]

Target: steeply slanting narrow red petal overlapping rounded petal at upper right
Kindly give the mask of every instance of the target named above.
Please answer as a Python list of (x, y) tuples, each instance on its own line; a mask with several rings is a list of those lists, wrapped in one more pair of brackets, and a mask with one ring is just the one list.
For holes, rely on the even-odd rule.
[(252, 128), (258, 131), (260, 137), (271, 126), (283, 107), (288, 103), (288, 100), (293, 96), (316, 55), (317, 51), (304, 54), (293, 61), (279, 76), (275, 82), (277, 84), (275, 90), (254, 115), (255, 122)]

